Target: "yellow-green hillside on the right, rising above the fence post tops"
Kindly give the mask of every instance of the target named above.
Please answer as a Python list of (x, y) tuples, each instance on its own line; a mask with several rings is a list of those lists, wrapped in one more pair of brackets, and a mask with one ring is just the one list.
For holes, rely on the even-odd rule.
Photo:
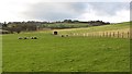
[(106, 30), (130, 30), (130, 22), (103, 25), (103, 26), (91, 26), (87, 28), (70, 28), (70, 29), (55, 29), (61, 33), (94, 33), (94, 32), (106, 32)]

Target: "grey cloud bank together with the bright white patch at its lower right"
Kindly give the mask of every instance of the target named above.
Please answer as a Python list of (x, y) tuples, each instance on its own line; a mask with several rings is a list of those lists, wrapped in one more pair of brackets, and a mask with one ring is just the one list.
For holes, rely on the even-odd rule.
[(124, 22), (130, 21), (129, 3), (105, 2), (52, 2), (37, 3), (26, 11), (28, 17), (42, 21), (61, 21), (65, 18), (81, 21)]

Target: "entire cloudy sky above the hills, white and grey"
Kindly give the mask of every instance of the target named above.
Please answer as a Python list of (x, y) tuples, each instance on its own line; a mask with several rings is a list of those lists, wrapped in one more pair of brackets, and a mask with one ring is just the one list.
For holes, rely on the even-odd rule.
[(0, 22), (130, 21), (130, 0), (0, 0)]

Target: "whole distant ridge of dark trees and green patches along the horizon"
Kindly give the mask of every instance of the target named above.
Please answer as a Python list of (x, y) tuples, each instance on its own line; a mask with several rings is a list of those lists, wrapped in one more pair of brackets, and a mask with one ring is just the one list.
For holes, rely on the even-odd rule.
[[(67, 25), (68, 24), (68, 25)], [(70, 25), (69, 25), (70, 24)], [(74, 24), (74, 25), (73, 25)], [(85, 24), (85, 25), (82, 25)], [(29, 21), (29, 22), (9, 22), (9, 23), (0, 23), (0, 28), (4, 30), (2, 34), (8, 33), (18, 33), (21, 32), (31, 32), (31, 30), (37, 30), (40, 28), (77, 28), (77, 27), (88, 27), (90, 26), (99, 26), (99, 25), (108, 25), (110, 23), (105, 23), (102, 21), (89, 21), (89, 22), (80, 22), (80, 21), (72, 21), (72, 20), (64, 20), (64, 21), (57, 21), (57, 22), (35, 22), (35, 21)]]

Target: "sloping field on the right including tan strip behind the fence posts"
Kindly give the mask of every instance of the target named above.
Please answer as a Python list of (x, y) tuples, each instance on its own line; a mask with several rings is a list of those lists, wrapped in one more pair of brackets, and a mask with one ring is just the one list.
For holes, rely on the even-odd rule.
[[(55, 29), (57, 30), (57, 29)], [(59, 34), (87, 34), (87, 33), (113, 33), (113, 32), (120, 32), (120, 33), (130, 33), (130, 22), (120, 23), (120, 24), (111, 24), (111, 25), (105, 25), (105, 26), (94, 26), (88, 28), (70, 28), (70, 29), (59, 29)]]

